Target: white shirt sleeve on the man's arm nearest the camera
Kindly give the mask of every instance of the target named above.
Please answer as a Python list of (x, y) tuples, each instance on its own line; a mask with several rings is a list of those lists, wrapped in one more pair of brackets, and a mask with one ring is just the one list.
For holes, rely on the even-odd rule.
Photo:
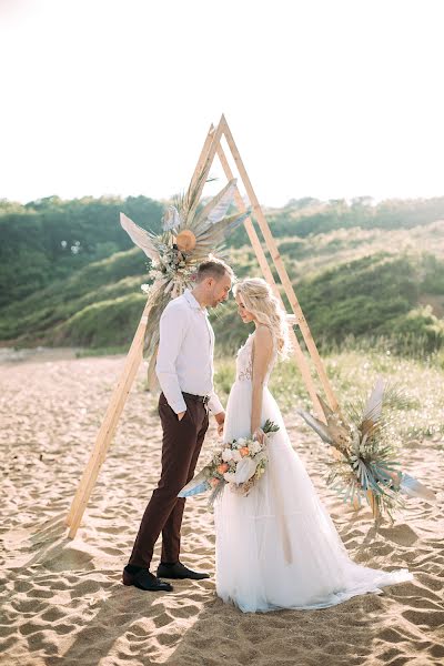
[(176, 360), (188, 329), (186, 311), (167, 307), (160, 317), (160, 342), (155, 374), (170, 407), (179, 414), (186, 412), (176, 373)]

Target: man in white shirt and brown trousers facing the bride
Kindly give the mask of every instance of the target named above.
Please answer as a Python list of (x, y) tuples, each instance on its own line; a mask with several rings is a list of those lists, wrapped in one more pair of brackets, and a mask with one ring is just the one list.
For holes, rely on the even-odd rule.
[[(233, 271), (220, 260), (198, 269), (192, 291), (171, 301), (160, 320), (155, 372), (162, 389), (159, 414), (162, 423), (162, 473), (145, 508), (123, 584), (151, 592), (171, 592), (164, 578), (208, 578), (179, 561), (180, 532), (185, 500), (178, 493), (194, 475), (209, 426), (208, 410), (221, 433), (225, 413), (213, 391), (214, 333), (206, 307), (229, 297)], [(162, 533), (162, 555), (157, 576), (150, 572), (154, 544)]]

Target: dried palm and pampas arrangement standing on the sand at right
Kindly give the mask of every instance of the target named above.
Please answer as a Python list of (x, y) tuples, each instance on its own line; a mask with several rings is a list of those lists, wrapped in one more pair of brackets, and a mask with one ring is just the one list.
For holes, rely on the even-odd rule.
[(299, 414), (332, 447), (327, 484), (355, 508), (366, 500), (373, 517), (403, 505), (402, 495), (434, 501), (435, 494), (415, 477), (402, 472), (393, 441), (394, 410), (403, 406), (402, 392), (380, 379), (366, 403), (349, 405), (347, 420), (320, 397), (326, 423), (307, 412)]

